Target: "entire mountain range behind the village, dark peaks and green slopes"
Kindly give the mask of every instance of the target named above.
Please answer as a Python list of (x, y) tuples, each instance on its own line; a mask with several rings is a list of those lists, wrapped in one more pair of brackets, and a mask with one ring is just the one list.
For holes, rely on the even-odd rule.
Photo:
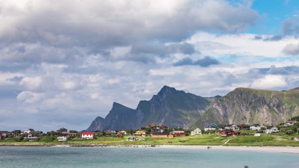
[(201, 97), (164, 86), (150, 100), (139, 101), (136, 109), (114, 102), (104, 121), (93, 121), (87, 129), (137, 129), (148, 123), (170, 128), (192, 129), (210, 123), (278, 124), (299, 115), (299, 88), (271, 91), (236, 88), (227, 95)]

